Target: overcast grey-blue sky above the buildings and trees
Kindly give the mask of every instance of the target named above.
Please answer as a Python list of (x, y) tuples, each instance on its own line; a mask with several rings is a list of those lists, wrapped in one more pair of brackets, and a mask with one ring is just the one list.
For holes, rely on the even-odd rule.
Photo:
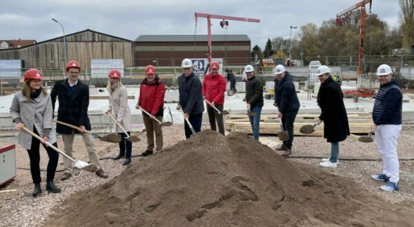
[[(45, 41), (66, 34), (95, 30), (135, 40), (141, 34), (207, 34), (207, 19), (195, 12), (260, 19), (260, 23), (229, 21), (227, 34), (247, 34), (252, 47), (264, 48), (267, 39), (290, 37), (290, 25), (299, 27), (333, 19), (360, 0), (0, 0), (0, 39)], [(368, 10), (368, 7), (367, 7)], [(373, 0), (371, 12), (391, 27), (399, 25), (397, 0)], [(212, 34), (224, 34), (219, 19), (212, 20)]]

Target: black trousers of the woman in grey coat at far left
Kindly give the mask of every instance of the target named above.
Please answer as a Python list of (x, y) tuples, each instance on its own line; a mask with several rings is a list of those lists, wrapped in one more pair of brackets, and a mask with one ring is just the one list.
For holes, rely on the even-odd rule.
[[(33, 132), (39, 135), (39, 133), (36, 130), (36, 127), (33, 127)], [(57, 147), (56, 142), (52, 145)], [(32, 137), (32, 146), (30, 147), (30, 150), (27, 151), (30, 159), (30, 173), (32, 174), (33, 184), (40, 184), (41, 182), (39, 147), (40, 141), (37, 140), (37, 138)], [(46, 152), (49, 156), (48, 169), (46, 172), (46, 181), (51, 181), (55, 179), (57, 162), (59, 160), (59, 153), (57, 153), (57, 151), (53, 150), (50, 147), (46, 147), (45, 144), (43, 144), (43, 147), (46, 149)]]

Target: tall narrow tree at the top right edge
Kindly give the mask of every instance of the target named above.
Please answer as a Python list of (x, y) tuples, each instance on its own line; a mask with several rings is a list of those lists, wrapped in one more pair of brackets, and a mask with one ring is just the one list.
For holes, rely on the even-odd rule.
[(400, 0), (400, 9), (402, 46), (411, 49), (414, 45), (414, 0)]

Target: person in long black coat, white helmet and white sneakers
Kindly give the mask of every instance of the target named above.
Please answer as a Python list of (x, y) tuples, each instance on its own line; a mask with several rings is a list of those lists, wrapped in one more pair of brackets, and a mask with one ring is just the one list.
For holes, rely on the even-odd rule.
[(321, 115), (317, 119), (319, 125), (324, 122), (324, 138), (331, 142), (331, 157), (322, 159), (320, 166), (336, 168), (339, 158), (339, 142), (349, 135), (348, 116), (344, 105), (344, 95), (338, 83), (331, 78), (331, 69), (322, 65), (317, 69), (321, 87), (317, 94), (317, 104)]

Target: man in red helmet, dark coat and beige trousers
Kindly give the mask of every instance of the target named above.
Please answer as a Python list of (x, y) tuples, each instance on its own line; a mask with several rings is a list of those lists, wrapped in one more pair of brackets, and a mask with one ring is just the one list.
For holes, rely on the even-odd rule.
[[(106, 178), (108, 175), (103, 172), (101, 163), (92, 141), (90, 133), (83, 133), (85, 130), (90, 131), (90, 121), (88, 118), (89, 107), (89, 86), (79, 80), (81, 66), (77, 61), (70, 61), (66, 65), (66, 74), (68, 78), (59, 80), (50, 92), (52, 98), (52, 106), (55, 109), (56, 97), (59, 98), (59, 109), (57, 110), (57, 120), (75, 125), (81, 130), (72, 129), (65, 125), (57, 124), (56, 132), (62, 135), (64, 148), (63, 151), (72, 157), (73, 140), (75, 134), (80, 133), (83, 142), (85, 142), (88, 151), (90, 163), (98, 167), (95, 172), (99, 177)], [(63, 158), (63, 166), (65, 173), (61, 180), (68, 180), (72, 176), (73, 162), (67, 158)]]

